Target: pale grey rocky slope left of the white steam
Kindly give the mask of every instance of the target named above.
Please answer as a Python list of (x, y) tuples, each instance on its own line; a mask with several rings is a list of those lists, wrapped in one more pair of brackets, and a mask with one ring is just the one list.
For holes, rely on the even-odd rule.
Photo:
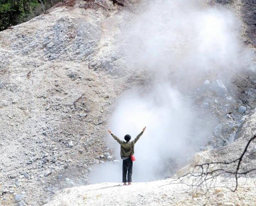
[(119, 6), (89, 3), (0, 33), (1, 205), (16, 205), (15, 194), (42, 205), (62, 187), (87, 184), (96, 158), (110, 151), (108, 110), (125, 87), (106, 73), (115, 59), (104, 56), (113, 37), (103, 31)]

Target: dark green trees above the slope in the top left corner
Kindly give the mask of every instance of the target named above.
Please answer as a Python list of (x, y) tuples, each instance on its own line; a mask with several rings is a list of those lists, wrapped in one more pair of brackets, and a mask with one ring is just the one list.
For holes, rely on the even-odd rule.
[(29, 21), (58, 1), (60, 0), (0, 0), (0, 31)]

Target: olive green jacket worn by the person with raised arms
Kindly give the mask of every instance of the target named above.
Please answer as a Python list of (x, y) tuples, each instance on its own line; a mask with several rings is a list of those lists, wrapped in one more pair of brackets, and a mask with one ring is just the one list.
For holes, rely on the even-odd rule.
[(142, 136), (143, 131), (139, 133), (139, 135), (130, 142), (125, 142), (119, 139), (117, 136), (112, 135), (112, 137), (120, 144), (120, 155), (121, 156), (131, 156), (134, 153), (134, 144), (139, 140), (140, 136)]

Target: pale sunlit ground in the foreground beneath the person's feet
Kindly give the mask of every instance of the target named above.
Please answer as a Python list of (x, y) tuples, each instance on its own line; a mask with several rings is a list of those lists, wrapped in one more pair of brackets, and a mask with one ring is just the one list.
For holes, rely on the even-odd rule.
[[(223, 179), (224, 181), (224, 179)], [(232, 181), (229, 179), (229, 181)], [(245, 183), (246, 179), (240, 179)], [(183, 184), (168, 184), (170, 180), (133, 183), (121, 186), (119, 183), (101, 183), (74, 187), (65, 190), (46, 206), (165, 206), (165, 205), (250, 205), (256, 204), (256, 186), (247, 181), (236, 192), (227, 188), (211, 189), (209, 194), (201, 189), (191, 189)], [(168, 184), (168, 185), (165, 185)], [(230, 184), (230, 182), (228, 183)], [(161, 185), (165, 185), (160, 187)], [(160, 188), (159, 188), (160, 187)], [(222, 194), (223, 193), (223, 194)]]

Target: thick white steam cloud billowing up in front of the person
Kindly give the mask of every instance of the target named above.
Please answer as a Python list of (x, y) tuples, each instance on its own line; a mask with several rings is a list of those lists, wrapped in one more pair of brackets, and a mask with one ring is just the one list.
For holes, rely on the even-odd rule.
[[(193, 109), (195, 90), (206, 79), (229, 85), (232, 74), (247, 65), (250, 54), (239, 41), (239, 20), (224, 8), (207, 8), (196, 0), (149, 0), (126, 12), (119, 52), (129, 70), (154, 76), (154, 81), (125, 92), (109, 120), (112, 132), (135, 138), (133, 181), (152, 181), (170, 175), (207, 143), (215, 119)], [(121, 43), (120, 43), (121, 42)], [(107, 141), (119, 158), (119, 144)], [(120, 158), (119, 158), (120, 159)], [(94, 168), (91, 182), (121, 181), (121, 163)]]

